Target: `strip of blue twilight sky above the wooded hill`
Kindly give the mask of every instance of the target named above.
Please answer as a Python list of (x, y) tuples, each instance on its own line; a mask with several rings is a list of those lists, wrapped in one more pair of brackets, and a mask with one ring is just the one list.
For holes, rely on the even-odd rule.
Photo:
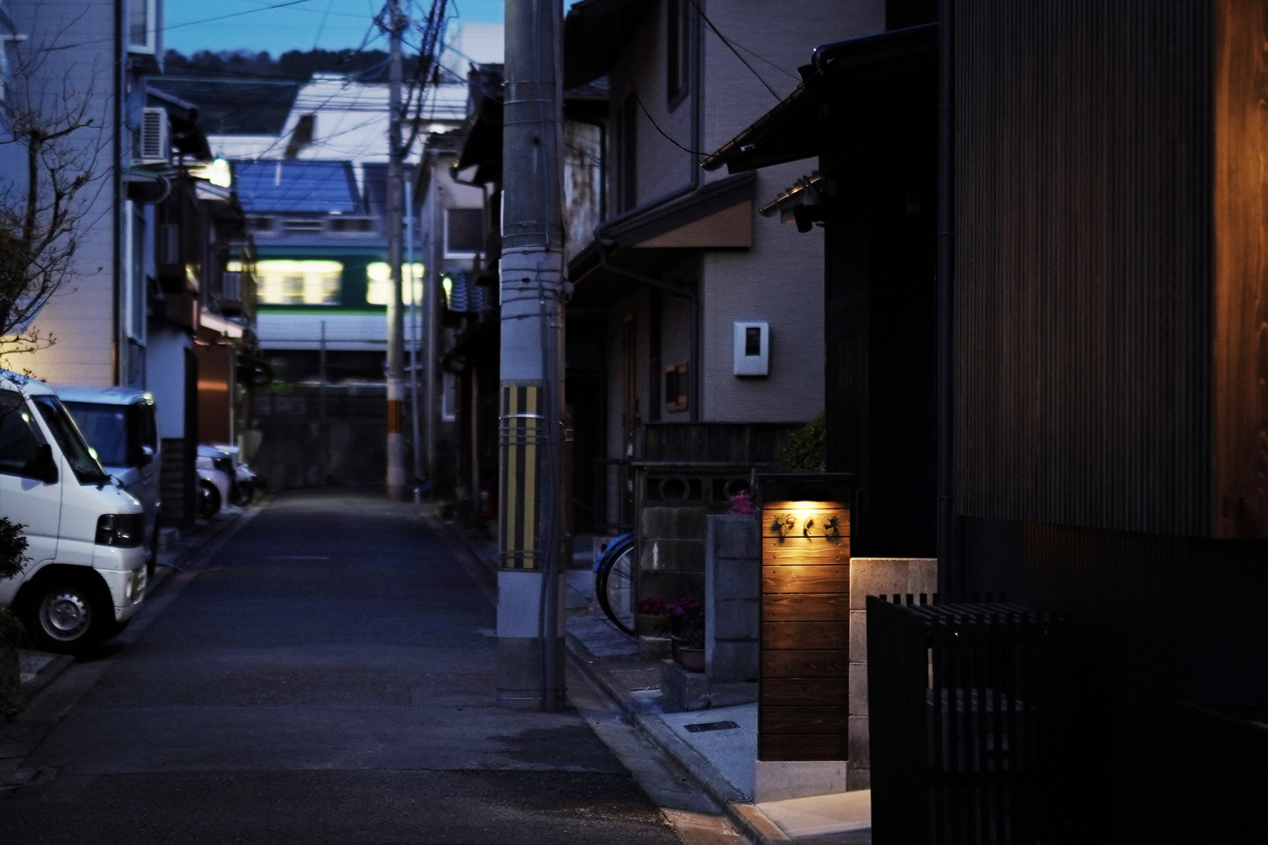
[[(276, 57), (288, 49), (359, 47), (383, 8), (383, 0), (161, 1), (166, 16), (164, 48), (186, 56), (199, 49), (266, 49)], [(426, 0), (404, 0), (403, 5), (415, 20), (425, 18), (431, 8)], [(502, 20), (502, 0), (450, 0), (449, 10), (450, 27)], [(370, 32), (368, 46), (387, 49), (378, 28)]]

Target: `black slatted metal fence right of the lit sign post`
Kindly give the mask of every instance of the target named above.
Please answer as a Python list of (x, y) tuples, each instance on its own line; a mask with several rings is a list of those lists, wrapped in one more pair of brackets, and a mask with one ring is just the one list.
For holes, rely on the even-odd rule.
[(867, 598), (874, 841), (1056, 841), (1065, 621), (900, 598)]

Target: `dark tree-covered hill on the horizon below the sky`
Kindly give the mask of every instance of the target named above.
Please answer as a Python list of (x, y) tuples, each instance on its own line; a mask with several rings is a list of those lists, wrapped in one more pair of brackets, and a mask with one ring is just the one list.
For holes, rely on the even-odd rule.
[[(417, 58), (406, 56), (403, 60), (404, 79), (412, 79)], [(164, 54), (167, 73), (213, 73), (224, 76), (276, 76), (290, 80), (307, 80), (313, 73), (349, 73), (361, 77), (365, 82), (385, 81), (388, 77), (388, 54), (382, 49), (292, 49), (276, 58), (268, 51), (222, 49), (212, 52), (200, 49), (193, 56), (184, 56), (175, 49)]]

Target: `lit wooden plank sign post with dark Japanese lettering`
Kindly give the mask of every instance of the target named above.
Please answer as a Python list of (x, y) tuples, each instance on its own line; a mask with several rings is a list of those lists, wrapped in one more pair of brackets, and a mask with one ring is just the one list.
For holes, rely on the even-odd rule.
[[(850, 511), (762, 508), (758, 760), (844, 760), (850, 701)], [(786, 526), (791, 514), (794, 524)], [(837, 517), (824, 532), (824, 517)], [(806, 518), (813, 518), (809, 536)], [(784, 526), (782, 530), (776, 526)]]

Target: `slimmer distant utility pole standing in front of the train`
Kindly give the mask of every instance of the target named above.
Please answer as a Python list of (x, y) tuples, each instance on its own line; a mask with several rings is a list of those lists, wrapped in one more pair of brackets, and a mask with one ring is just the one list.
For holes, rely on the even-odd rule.
[(401, 0), (388, 0), (379, 25), (389, 38), (388, 65), (388, 265), (392, 270), (392, 298), (388, 299), (388, 421), (387, 452), (388, 499), (404, 497), (404, 309), (401, 298), (401, 194), (404, 179), (401, 172), (401, 35), (408, 19), (401, 11)]

